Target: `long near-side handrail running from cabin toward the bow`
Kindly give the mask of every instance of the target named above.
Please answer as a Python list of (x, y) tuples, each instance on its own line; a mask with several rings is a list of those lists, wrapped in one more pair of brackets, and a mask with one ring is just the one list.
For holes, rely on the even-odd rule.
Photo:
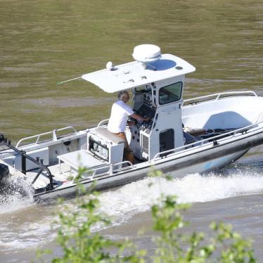
[[(152, 161), (155, 161), (155, 159), (157, 158), (160, 158), (160, 155), (165, 155), (166, 153), (170, 153), (171, 155), (177, 155), (179, 153), (181, 153), (183, 150), (188, 150), (188, 148), (191, 148), (195, 145), (198, 145), (199, 147), (202, 147), (204, 145), (204, 143), (206, 142), (212, 142), (211, 140), (217, 140), (217, 139), (221, 139), (221, 137), (225, 137), (226, 135), (232, 135), (231, 138), (235, 137), (236, 134), (240, 133), (240, 132), (245, 132), (245, 133), (248, 133), (248, 130), (249, 129), (252, 129), (252, 127), (257, 127), (258, 124), (263, 124), (263, 121), (262, 122), (257, 122), (255, 124), (251, 124), (251, 125), (248, 125), (248, 126), (245, 126), (245, 127), (242, 127), (242, 128), (239, 128), (239, 129), (235, 129), (233, 131), (228, 131), (224, 134), (219, 134), (217, 136), (214, 136), (214, 137), (210, 137), (210, 138), (207, 138), (207, 139), (203, 139), (201, 141), (195, 141), (193, 143), (189, 143), (185, 146), (180, 146), (178, 148), (173, 148), (173, 149), (170, 149), (170, 150), (164, 150), (160, 153), (156, 153), (152, 159)], [(229, 139), (229, 138), (228, 138)], [(186, 149), (187, 148), (187, 149)], [(178, 151), (180, 150), (180, 151)], [(174, 152), (174, 151), (177, 151), (177, 153), (171, 153), (171, 152)]]

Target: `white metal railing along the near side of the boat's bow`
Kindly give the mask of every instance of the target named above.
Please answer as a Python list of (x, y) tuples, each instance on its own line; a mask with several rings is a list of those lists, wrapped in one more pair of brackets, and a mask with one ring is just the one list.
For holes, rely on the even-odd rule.
[[(193, 143), (189, 143), (189, 144), (186, 144), (184, 146), (180, 146), (178, 148), (173, 148), (173, 149), (170, 149), (170, 150), (164, 150), (160, 153), (156, 153), (152, 159), (152, 161), (156, 161), (158, 158), (163, 158), (164, 156), (166, 157), (167, 155), (179, 155), (180, 153), (182, 153), (184, 150), (192, 150), (193, 147), (203, 147), (203, 146), (206, 146), (207, 143), (213, 143), (214, 146), (217, 146), (219, 143), (217, 142), (218, 139), (223, 139), (225, 137), (227, 137), (226, 139), (229, 139), (229, 138), (233, 138), (236, 136), (236, 134), (248, 134), (250, 133), (250, 129), (254, 128), (254, 127), (257, 127), (258, 124), (263, 124), (263, 121), (262, 122), (257, 122), (255, 124), (251, 124), (251, 125), (248, 125), (248, 126), (245, 126), (245, 127), (242, 127), (242, 128), (239, 128), (239, 129), (235, 129), (235, 130), (232, 130), (232, 131), (228, 131), (228, 132), (225, 132), (224, 134), (219, 134), (217, 136), (213, 136), (213, 137), (210, 137), (210, 138), (207, 138), (207, 139), (203, 139), (203, 140), (200, 140), (200, 141), (195, 141)], [(262, 129), (262, 127), (259, 129)], [(253, 131), (255, 131), (255, 129), (253, 129)], [(231, 136), (231, 137), (229, 137)]]

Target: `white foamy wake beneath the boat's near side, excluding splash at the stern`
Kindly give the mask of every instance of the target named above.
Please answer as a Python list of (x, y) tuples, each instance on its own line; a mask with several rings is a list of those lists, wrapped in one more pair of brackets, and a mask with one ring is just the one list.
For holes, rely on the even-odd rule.
[(188, 174), (181, 179), (146, 178), (123, 186), (100, 197), (101, 211), (115, 218), (115, 224), (146, 212), (162, 195), (176, 195), (178, 203), (198, 203), (263, 192), (263, 174), (228, 172), (229, 174)]

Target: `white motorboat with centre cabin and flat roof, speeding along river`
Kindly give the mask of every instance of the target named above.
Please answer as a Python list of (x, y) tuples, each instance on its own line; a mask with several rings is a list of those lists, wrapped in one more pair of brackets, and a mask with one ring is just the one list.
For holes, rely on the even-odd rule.
[(28, 136), (15, 146), (1, 135), (3, 178), (8, 168), (8, 176), (27, 181), (35, 200), (47, 200), (76, 193), (78, 184), (86, 190), (128, 184), (153, 167), (172, 177), (209, 172), (263, 143), (262, 96), (231, 91), (184, 100), (193, 65), (150, 44), (136, 46), (132, 56), (130, 63), (108, 62), (75, 79), (132, 94), (131, 108), (149, 119), (126, 127), (135, 164), (123, 160), (124, 141), (108, 131), (107, 119), (80, 131), (69, 126)]

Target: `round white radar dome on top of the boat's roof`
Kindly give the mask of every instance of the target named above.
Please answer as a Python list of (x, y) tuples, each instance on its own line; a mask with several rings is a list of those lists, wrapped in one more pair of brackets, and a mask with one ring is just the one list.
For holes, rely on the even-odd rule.
[(161, 49), (159, 46), (143, 44), (135, 46), (134, 53), (132, 54), (135, 60), (147, 63), (161, 58)]

